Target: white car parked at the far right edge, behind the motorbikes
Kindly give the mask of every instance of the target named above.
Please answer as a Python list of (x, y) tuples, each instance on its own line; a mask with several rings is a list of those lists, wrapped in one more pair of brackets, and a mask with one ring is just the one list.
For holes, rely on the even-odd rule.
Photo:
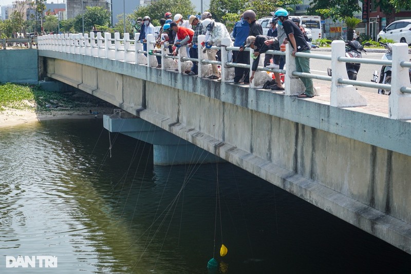
[(395, 42), (411, 44), (411, 19), (394, 21), (377, 35), (377, 41), (391, 39)]

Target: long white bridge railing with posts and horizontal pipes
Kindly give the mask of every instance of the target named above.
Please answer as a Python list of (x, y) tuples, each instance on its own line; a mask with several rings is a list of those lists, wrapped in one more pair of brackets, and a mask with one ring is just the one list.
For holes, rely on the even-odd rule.
[[(212, 49), (221, 50), (221, 61), (209, 60), (207, 54), (198, 48), (198, 58), (189, 58), (186, 56), (185, 50), (180, 49), (178, 56), (171, 56), (167, 52), (164, 45), (159, 49), (160, 52), (154, 52), (155, 39), (154, 36), (147, 35), (147, 50), (143, 50), (142, 43), (137, 39), (139, 33), (135, 34), (135, 40), (129, 39), (129, 34), (125, 34), (123, 39), (120, 39), (120, 33), (115, 33), (114, 39), (110, 33), (98, 32), (95, 36), (94, 32), (82, 34), (49, 34), (38, 37), (39, 50), (54, 50), (73, 54), (82, 54), (87, 56), (107, 58), (138, 65), (146, 65), (148, 67), (159, 67), (161, 64), (162, 70), (173, 69), (182, 73), (185, 68), (189, 68), (188, 61), (197, 62), (198, 75), (197, 77), (207, 77), (211, 74), (211, 69), (208, 64), (220, 66), (221, 82), (233, 82), (233, 67), (242, 67), (250, 69), (249, 64), (235, 63), (231, 59), (231, 52), (238, 51), (239, 47), (231, 47), (229, 39), (221, 41), (221, 47), (213, 46)], [(199, 35), (198, 43), (204, 41), (205, 36)], [(250, 64), (252, 59), (253, 49), (246, 48), (250, 52)], [(152, 53), (152, 54), (150, 54)], [(290, 45), (286, 45), (286, 51), (269, 50), (267, 54), (277, 54), (286, 56), (286, 70), (270, 69), (264, 66), (258, 66), (258, 71), (279, 72), (285, 74), (285, 95), (295, 96), (302, 93), (304, 86), (299, 78), (311, 78), (330, 81), (330, 105), (337, 107), (351, 107), (366, 105), (366, 99), (353, 87), (364, 86), (372, 88), (390, 89), (389, 97), (389, 113), (388, 117), (392, 119), (411, 119), (411, 84), (409, 82), (408, 68), (411, 67), (411, 62), (408, 59), (408, 47), (406, 44), (393, 45), (393, 60), (369, 60), (356, 59), (356, 63), (389, 65), (392, 67), (393, 79), (391, 84), (378, 84), (361, 81), (353, 81), (348, 79), (345, 63), (352, 62), (351, 58), (345, 57), (344, 41), (333, 41), (331, 44), (331, 56), (324, 56), (315, 53), (297, 52), (296, 57), (321, 59), (330, 61), (332, 76), (324, 76), (318, 74), (307, 74), (296, 71), (295, 57), (291, 55)], [(262, 60), (260, 60), (262, 61)], [(159, 63), (160, 62), (160, 63)], [(258, 75), (259, 74), (259, 75)], [(250, 88), (259, 88), (268, 78), (267, 74), (256, 72), (254, 81), (250, 84)]]

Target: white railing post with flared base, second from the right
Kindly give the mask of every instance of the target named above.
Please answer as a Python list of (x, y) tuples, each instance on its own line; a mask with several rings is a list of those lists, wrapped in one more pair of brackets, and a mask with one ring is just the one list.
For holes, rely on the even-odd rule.
[(354, 86), (338, 83), (338, 79), (348, 79), (345, 62), (338, 61), (339, 57), (344, 56), (345, 42), (341, 40), (332, 41), (330, 105), (337, 107), (367, 105), (367, 100), (358, 93)]

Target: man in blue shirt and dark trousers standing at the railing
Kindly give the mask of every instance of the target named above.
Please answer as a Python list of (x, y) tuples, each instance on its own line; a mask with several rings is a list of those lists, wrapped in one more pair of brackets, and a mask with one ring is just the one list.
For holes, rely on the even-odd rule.
[[(233, 28), (234, 46), (242, 47), (244, 42), (250, 33), (250, 25), (244, 19), (236, 22)], [(250, 64), (250, 52), (249, 51), (233, 51), (233, 62), (239, 64)], [(241, 78), (244, 76), (244, 82), (250, 83), (249, 80), (250, 70), (248, 68), (234, 68), (234, 83), (238, 84)]]

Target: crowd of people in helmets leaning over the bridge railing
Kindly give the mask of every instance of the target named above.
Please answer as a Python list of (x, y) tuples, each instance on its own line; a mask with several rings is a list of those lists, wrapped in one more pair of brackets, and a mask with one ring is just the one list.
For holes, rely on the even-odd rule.
[[(263, 35), (263, 28), (258, 23), (256, 14), (253, 10), (246, 10), (239, 16), (239, 21), (234, 24), (232, 41), (230, 33), (226, 26), (216, 22), (212, 14), (208, 11), (202, 13), (199, 17), (191, 15), (189, 20), (184, 20), (181, 14), (173, 14), (166, 12), (164, 18), (160, 19), (160, 35), (157, 38), (156, 46), (159, 48), (162, 44), (169, 49), (169, 54), (176, 56), (180, 47), (186, 45), (186, 53), (191, 58), (198, 58), (198, 52), (201, 50), (207, 53), (209, 60), (221, 61), (221, 51), (212, 46), (221, 46), (223, 38), (228, 38), (225, 41), (230, 41), (229, 45), (239, 47), (239, 51), (233, 51), (233, 56), (228, 56), (228, 60), (239, 64), (250, 64), (250, 52), (245, 51), (246, 47), (254, 50), (252, 58), (252, 73), (249, 75), (249, 69), (235, 67), (235, 84), (249, 84), (254, 79), (255, 71), (260, 59), (260, 54), (267, 50), (285, 50), (285, 45), (290, 43), (292, 47), (292, 55), (296, 52), (310, 52), (310, 46), (307, 43), (307, 35), (304, 28), (299, 24), (298, 19), (289, 18), (289, 13), (283, 8), (277, 8), (272, 12), (271, 28), (267, 35)], [(147, 35), (155, 34), (155, 28), (151, 23), (150, 16), (139, 17), (138, 25), (141, 26), (139, 40), (143, 42), (143, 50), (147, 51)], [(205, 35), (205, 41), (199, 45), (198, 36)], [(231, 54), (231, 51), (229, 51)], [(303, 57), (295, 57), (296, 71), (310, 73), (309, 59)], [(158, 68), (161, 68), (161, 57), (157, 56)], [(285, 56), (265, 54), (264, 66), (273, 69), (284, 69)], [(197, 62), (193, 62), (190, 70), (185, 70), (185, 74), (196, 76), (198, 74)], [(276, 79), (271, 86), (265, 86), (272, 90), (284, 90), (282, 81), (280, 80), (279, 72), (274, 72)], [(212, 80), (220, 78), (220, 72), (216, 64), (212, 64), (212, 74), (208, 77)], [(311, 98), (314, 96), (312, 79), (301, 78), (305, 85), (305, 92), (298, 97)]]

